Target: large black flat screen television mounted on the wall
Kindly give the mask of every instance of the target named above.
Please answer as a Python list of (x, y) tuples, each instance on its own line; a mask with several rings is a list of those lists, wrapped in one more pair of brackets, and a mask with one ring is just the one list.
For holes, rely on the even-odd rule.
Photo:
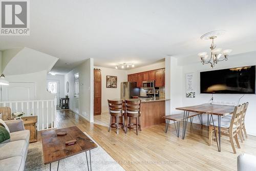
[(255, 66), (200, 72), (206, 94), (255, 94)]

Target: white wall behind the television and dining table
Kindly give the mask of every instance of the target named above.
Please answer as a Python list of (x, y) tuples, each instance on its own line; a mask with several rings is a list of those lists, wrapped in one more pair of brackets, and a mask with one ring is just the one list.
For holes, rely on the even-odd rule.
[[(222, 61), (217, 64), (217, 66), (214, 68), (214, 70), (217, 69), (225, 69), (225, 68), (233, 68), (233, 67), (241, 67), (241, 66), (250, 66), (250, 65), (256, 65), (256, 60), (255, 60), (256, 52), (250, 52), (250, 53), (244, 53), (244, 54), (239, 54), (239, 55), (232, 55), (229, 57), (228, 61)], [(195, 56), (197, 58), (197, 56)], [(179, 65), (182, 65), (182, 60), (178, 61)], [(189, 59), (188, 59), (189, 60)], [(194, 59), (193, 59), (194, 60)], [(191, 61), (193, 61), (191, 60)], [(178, 66), (177, 66), (178, 67)], [(179, 87), (182, 87), (182, 93), (175, 92), (175, 97), (182, 97), (182, 106), (189, 106), (189, 105), (197, 105), (197, 104), (202, 104), (202, 103), (208, 103), (211, 94), (200, 94), (200, 72), (201, 71), (210, 71), (212, 70), (209, 65), (202, 65), (200, 61), (198, 62), (191, 62), (189, 65), (187, 65), (187, 62), (185, 65), (182, 66), (182, 75), (181, 75), (181, 83), (178, 81), (174, 81), (174, 79), (177, 80), (177, 77), (180, 75), (179, 72), (180, 70), (176, 70), (176, 74), (172, 75), (171, 77), (171, 92), (175, 92), (176, 90), (179, 90)], [(172, 72), (172, 71), (171, 71)], [(185, 74), (186, 73), (195, 73), (195, 88), (196, 88), (196, 98), (186, 98), (185, 97)], [(175, 74), (174, 73), (174, 74)], [(171, 73), (172, 74), (172, 73)], [(222, 101), (222, 102), (235, 102), (238, 103), (239, 98), (242, 95), (214, 95), (214, 101)], [(171, 101), (176, 100), (177, 98), (172, 98)], [(249, 102), (249, 107), (247, 110), (247, 115), (245, 118), (245, 125), (248, 134), (251, 135), (256, 135), (256, 127), (254, 121), (256, 120), (256, 95), (245, 95), (240, 103), (244, 103), (248, 101)], [(178, 105), (173, 106), (172, 109), (175, 107), (178, 107)], [(174, 112), (178, 112), (175, 111)], [(204, 116), (206, 117), (206, 115)], [(196, 118), (195, 118), (196, 119)], [(194, 119), (194, 120), (195, 120)], [(204, 119), (205, 122), (207, 122), (207, 119)], [(195, 120), (195, 122), (198, 122)]]

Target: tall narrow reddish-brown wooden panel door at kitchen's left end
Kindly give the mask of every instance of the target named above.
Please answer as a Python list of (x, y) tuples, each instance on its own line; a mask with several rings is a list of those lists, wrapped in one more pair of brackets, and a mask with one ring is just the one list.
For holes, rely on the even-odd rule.
[(101, 71), (94, 69), (94, 115), (101, 114)]

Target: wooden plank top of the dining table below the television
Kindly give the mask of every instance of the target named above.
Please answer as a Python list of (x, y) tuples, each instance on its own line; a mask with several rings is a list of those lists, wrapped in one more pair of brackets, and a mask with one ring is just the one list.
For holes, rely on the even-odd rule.
[(176, 110), (204, 113), (209, 115), (226, 116), (234, 112), (234, 106), (230, 105), (217, 105), (217, 104), (200, 104), (194, 106), (186, 106), (182, 108), (176, 108)]

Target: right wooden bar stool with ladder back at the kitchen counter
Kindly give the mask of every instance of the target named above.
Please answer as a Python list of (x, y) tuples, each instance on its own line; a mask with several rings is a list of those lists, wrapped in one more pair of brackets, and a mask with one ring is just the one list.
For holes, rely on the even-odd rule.
[[(127, 133), (128, 129), (130, 130), (136, 129), (137, 135), (138, 135), (138, 128), (141, 131), (140, 106), (141, 106), (141, 100), (125, 100), (125, 109), (126, 109), (125, 113), (127, 116), (125, 134)], [(136, 123), (132, 123), (132, 118), (136, 118)], [(136, 127), (134, 125), (136, 125)]]

